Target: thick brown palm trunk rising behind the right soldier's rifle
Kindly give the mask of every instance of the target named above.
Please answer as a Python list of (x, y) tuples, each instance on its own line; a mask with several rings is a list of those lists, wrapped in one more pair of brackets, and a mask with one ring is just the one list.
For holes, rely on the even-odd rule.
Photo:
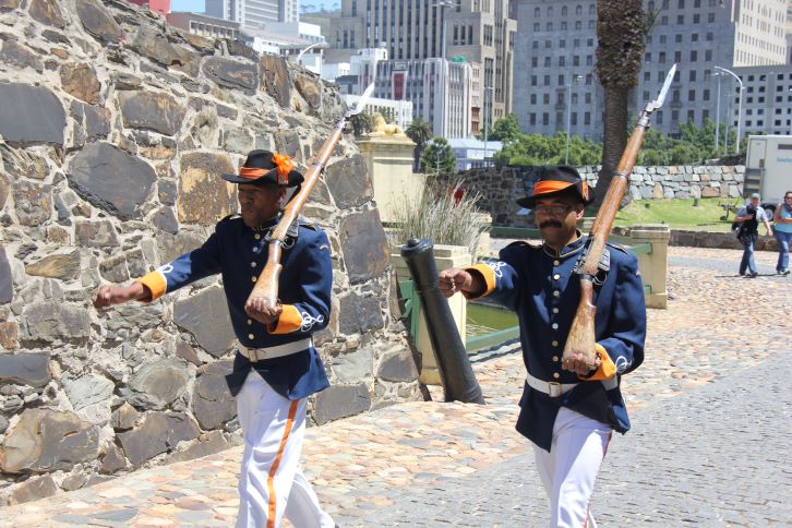
[(638, 84), (646, 27), (641, 0), (597, 0), (597, 75), (605, 99), (598, 206), (627, 144), (627, 95)]

